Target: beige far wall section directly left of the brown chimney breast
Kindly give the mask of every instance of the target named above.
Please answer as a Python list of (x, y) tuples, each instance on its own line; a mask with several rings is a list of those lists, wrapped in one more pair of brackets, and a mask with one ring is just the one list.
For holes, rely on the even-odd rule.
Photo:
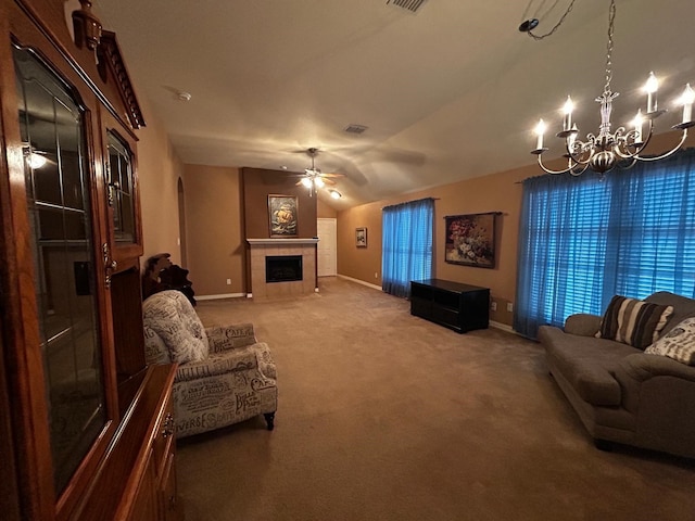
[(187, 268), (195, 295), (245, 293), (239, 169), (200, 165), (185, 169)]

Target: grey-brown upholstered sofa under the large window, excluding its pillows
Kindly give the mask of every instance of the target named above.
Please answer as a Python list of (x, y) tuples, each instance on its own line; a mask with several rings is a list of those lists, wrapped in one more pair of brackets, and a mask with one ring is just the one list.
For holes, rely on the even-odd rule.
[[(695, 301), (672, 293), (655, 293), (646, 302), (673, 306), (659, 339), (695, 316)], [(617, 442), (695, 458), (695, 367), (595, 338), (601, 321), (573, 315), (564, 330), (539, 330), (551, 373), (596, 446)]]

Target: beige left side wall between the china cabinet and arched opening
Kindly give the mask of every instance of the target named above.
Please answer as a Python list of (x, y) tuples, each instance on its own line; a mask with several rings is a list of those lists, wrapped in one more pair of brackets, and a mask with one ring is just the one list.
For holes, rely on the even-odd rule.
[(180, 264), (178, 246), (178, 179), (184, 164), (177, 157), (163, 125), (149, 110), (147, 99), (139, 99), (147, 126), (137, 131), (138, 182), (144, 260), (156, 253), (172, 254), (172, 262)]

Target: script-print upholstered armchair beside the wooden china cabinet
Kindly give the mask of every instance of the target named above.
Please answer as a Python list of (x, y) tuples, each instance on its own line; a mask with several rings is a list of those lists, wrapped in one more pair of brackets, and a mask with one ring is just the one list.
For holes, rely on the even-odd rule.
[(177, 437), (257, 415), (273, 430), (275, 364), (251, 323), (204, 328), (186, 295), (175, 290), (149, 296), (142, 312), (148, 364), (179, 364), (172, 392)]

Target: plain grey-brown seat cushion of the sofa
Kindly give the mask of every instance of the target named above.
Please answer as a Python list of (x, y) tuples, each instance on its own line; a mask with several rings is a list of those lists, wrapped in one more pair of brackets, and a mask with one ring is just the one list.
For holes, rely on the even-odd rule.
[(586, 403), (617, 406), (621, 402), (620, 384), (612, 370), (620, 360), (641, 351), (612, 340), (567, 334), (549, 326), (539, 329), (548, 365), (558, 370)]

